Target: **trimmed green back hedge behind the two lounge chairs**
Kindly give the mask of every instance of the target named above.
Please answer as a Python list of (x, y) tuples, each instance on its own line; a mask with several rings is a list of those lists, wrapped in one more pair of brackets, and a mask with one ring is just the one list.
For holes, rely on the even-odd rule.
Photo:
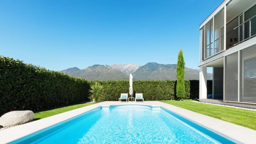
[[(93, 84), (95, 81), (90, 81)], [(129, 81), (97, 81), (103, 85), (103, 101), (117, 101), (121, 93), (129, 93)], [(209, 92), (212, 90), (211, 80), (207, 81)], [(143, 93), (144, 100), (176, 99), (176, 81), (174, 80), (135, 80), (133, 81), (133, 97), (135, 93)], [(185, 99), (199, 98), (199, 80), (185, 80)]]

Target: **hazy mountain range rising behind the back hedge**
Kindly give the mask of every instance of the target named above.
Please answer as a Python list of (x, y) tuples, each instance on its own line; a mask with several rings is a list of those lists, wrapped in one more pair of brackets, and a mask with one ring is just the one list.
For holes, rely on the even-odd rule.
[[(176, 80), (176, 64), (147, 63), (139, 66), (135, 64), (92, 65), (85, 69), (77, 67), (62, 70), (70, 76), (86, 80), (128, 80), (129, 74), (134, 80)], [(212, 74), (207, 74), (212, 79)], [(185, 79), (198, 80), (199, 70), (185, 67)]]

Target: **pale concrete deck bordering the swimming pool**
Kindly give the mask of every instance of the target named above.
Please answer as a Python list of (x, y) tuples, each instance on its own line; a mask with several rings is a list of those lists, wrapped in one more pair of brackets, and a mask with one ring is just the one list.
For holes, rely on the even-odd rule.
[(38, 130), (47, 128), (59, 122), (63, 122), (66, 119), (78, 116), (79, 114), (90, 111), (100, 106), (111, 105), (148, 105), (148, 106), (161, 106), (171, 112), (174, 112), (196, 124), (202, 126), (214, 133), (221, 135), (222, 137), (229, 139), (235, 143), (256, 143), (256, 130), (238, 126), (229, 122), (222, 121), (220, 119), (212, 118), (203, 114), (192, 112), (180, 107), (169, 105), (167, 103), (159, 101), (145, 101), (145, 102), (117, 102), (117, 101), (105, 101), (96, 103), (94, 105), (85, 106), (68, 112), (56, 114), (51, 117), (39, 119), (30, 123), (22, 124), (13, 128), (0, 131), (0, 143), (8, 143), (18, 138), (24, 137)]

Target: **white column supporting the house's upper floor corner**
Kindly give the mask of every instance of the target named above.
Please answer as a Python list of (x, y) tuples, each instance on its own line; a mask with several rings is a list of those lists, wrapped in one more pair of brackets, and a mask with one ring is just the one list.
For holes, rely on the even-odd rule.
[(199, 99), (207, 98), (207, 66), (199, 67)]

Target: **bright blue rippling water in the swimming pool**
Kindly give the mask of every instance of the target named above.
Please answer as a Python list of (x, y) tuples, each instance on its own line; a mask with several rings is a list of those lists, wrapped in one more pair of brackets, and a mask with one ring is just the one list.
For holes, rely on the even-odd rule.
[(232, 143), (164, 108), (96, 108), (11, 143)]

